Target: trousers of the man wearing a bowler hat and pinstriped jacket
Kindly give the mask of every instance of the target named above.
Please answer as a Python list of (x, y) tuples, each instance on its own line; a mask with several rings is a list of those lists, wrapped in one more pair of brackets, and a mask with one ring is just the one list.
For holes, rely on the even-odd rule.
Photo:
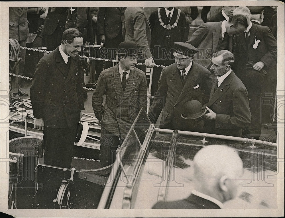
[(115, 162), (116, 150), (121, 145), (121, 137), (114, 135), (101, 126), (100, 162), (108, 166)]

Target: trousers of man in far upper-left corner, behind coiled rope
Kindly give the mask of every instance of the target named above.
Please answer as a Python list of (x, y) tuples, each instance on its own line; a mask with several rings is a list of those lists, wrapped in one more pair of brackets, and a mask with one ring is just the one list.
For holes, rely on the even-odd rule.
[[(27, 45), (27, 39), (19, 41), (20, 46), (26, 47)], [(26, 50), (21, 48), (21, 60), (18, 63), (18, 66), (15, 67), (15, 71), (11, 73), (15, 73), (17, 75), (23, 76), (24, 73), (24, 66), (25, 66), (25, 58), (26, 58)], [(14, 61), (9, 61), (11, 67), (13, 68), (15, 62)], [(18, 71), (18, 72), (17, 72)], [(12, 85), (12, 90), (11, 92), (17, 93), (18, 89), (20, 89), (20, 82), (21, 78), (20, 77), (11, 77), (11, 85)]]

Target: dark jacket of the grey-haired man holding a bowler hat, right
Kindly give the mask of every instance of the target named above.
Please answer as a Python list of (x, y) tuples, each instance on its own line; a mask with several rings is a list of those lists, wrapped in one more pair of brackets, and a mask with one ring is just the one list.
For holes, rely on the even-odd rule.
[(251, 122), (247, 89), (233, 71), (215, 92), (214, 88), (207, 106), (216, 113), (216, 119), (205, 120), (205, 132), (241, 137), (242, 128)]

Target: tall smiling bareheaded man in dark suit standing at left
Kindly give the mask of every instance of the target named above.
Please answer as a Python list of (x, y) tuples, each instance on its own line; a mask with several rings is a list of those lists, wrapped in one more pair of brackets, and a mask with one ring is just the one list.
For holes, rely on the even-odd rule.
[(30, 88), (34, 127), (44, 131), (44, 163), (70, 168), (76, 129), (84, 110), (78, 52), (82, 34), (62, 34), (62, 44), (40, 59)]

